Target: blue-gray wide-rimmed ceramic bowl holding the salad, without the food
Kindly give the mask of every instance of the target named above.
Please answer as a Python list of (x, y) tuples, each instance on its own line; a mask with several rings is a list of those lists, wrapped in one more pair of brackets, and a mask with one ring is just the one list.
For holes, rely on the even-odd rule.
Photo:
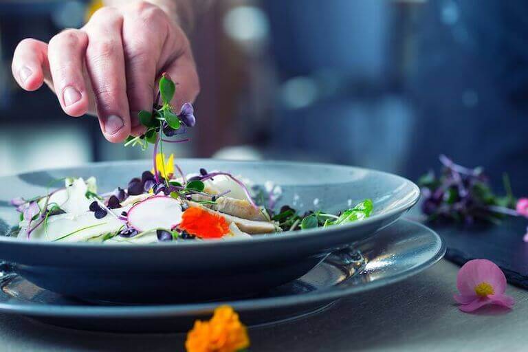
[[(283, 188), (278, 206), (337, 212), (371, 198), (374, 213), (349, 225), (245, 241), (96, 245), (1, 237), (0, 259), (13, 263), (14, 270), (40, 287), (85, 300), (181, 302), (254, 294), (303, 276), (329, 252), (372, 236), (419, 197), (419, 189), (407, 179), (349, 166), (210, 159), (182, 159), (179, 166), (186, 173), (201, 167), (230, 171), (258, 185), (274, 181)], [(17, 223), (9, 199), (43, 194), (52, 179), (94, 175), (104, 192), (148, 168), (148, 161), (111, 162), (0, 177), (1, 223), (4, 230)]]

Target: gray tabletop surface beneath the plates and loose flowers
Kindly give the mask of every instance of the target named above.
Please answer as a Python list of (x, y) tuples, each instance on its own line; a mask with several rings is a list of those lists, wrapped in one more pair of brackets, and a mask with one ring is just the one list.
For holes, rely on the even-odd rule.
[[(252, 351), (523, 351), (528, 292), (507, 287), (511, 311), (463, 314), (452, 300), (456, 265), (441, 261), (406, 281), (351, 296), (316, 316), (250, 329)], [(183, 351), (183, 334), (61, 329), (0, 315), (1, 351)]]

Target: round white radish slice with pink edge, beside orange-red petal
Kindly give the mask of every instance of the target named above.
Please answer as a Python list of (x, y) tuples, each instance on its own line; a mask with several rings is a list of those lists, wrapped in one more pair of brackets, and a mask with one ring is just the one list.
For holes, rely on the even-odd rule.
[(137, 231), (163, 228), (170, 230), (181, 222), (181, 205), (174, 198), (155, 196), (130, 208), (128, 221)]

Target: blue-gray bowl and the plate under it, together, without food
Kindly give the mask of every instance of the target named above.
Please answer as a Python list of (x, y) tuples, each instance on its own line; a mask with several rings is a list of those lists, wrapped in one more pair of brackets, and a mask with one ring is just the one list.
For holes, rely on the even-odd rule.
[[(179, 165), (230, 170), (255, 184), (272, 180), (282, 189), (278, 206), (337, 212), (370, 198), (374, 211), (346, 225), (232, 241), (102, 245), (4, 236), (0, 311), (76, 329), (159, 333), (188, 331), (227, 304), (247, 325), (265, 325), (407, 278), (445, 252), (432, 230), (399, 219), (419, 189), (396, 175), (290, 162), (184, 159)], [(0, 229), (16, 222), (8, 199), (39, 194), (50, 179), (96, 176), (111, 190), (145, 169), (147, 162), (113, 162), (1, 177)]]

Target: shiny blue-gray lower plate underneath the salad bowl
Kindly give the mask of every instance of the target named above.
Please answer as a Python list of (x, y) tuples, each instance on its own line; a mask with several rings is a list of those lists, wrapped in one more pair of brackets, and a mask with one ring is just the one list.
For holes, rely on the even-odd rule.
[(76, 329), (163, 332), (188, 331), (193, 320), (228, 304), (246, 324), (262, 325), (311, 314), (338, 298), (408, 278), (437, 262), (444, 252), (436, 233), (402, 219), (353, 250), (334, 252), (302, 278), (259, 296), (177, 305), (89, 305), (8, 273), (1, 283), (0, 311)]

